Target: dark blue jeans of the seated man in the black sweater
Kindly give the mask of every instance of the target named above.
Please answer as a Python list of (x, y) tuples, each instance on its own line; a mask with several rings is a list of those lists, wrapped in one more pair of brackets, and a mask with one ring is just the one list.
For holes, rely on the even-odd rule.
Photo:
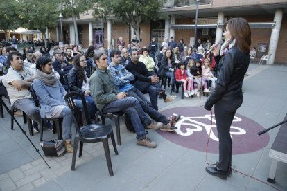
[(159, 108), (157, 107), (157, 96), (159, 95), (160, 91), (163, 91), (159, 82), (152, 83), (137, 80), (136, 82), (134, 82), (133, 85), (142, 93), (148, 93), (148, 96), (150, 96), (150, 102), (151, 104), (153, 104), (153, 108), (155, 110), (159, 110)]

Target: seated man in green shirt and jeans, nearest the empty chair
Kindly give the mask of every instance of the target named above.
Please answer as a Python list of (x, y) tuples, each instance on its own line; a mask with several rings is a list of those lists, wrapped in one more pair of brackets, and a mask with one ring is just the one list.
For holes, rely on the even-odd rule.
[(96, 107), (102, 113), (122, 111), (131, 120), (132, 127), (137, 134), (137, 145), (155, 148), (157, 144), (146, 137), (146, 129), (159, 129), (163, 124), (156, 123), (146, 115), (136, 98), (128, 97), (125, 91), (117, 91), (110, 71), (107, 70), (107, 54), (96, 51), (94, 62), (98, 68), (91, 75), (89, 86)]

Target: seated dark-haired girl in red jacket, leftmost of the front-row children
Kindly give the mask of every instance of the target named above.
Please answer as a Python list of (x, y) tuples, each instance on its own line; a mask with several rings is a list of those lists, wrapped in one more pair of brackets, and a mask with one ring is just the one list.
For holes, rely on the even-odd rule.
[[(177, 69), (175, 71), (175, 80), (176, 81), (182, 81), (184, 82), (183, 87), (184, 87), (184, 96), (186, 98), (189, 98), (189, 96), (194, 95), (194, 90), (193, 90), (193, 78), (190, 78), (186, 75), (186, 70), (185, 70), (185, 65), (184, 62), (180, 62), (180, 69)], [(187, 82), (189, 82), (187, 84)], [(187, 87), (187, 89), (186, 89)]]

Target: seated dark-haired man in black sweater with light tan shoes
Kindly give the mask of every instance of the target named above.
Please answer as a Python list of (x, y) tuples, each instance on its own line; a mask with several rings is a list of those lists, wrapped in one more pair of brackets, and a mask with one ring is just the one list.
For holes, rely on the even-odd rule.
[(148, 69), (143, 62), (139, 61), (139, 52), (132, 50), (130, 62), (125, 66), (125, 69), (130, 71), (135, 80), (131, 83), (135, 88), (139, 89), (142, 93), (148, 93), (150, 96), (150, 102), (153, 104), (155, 110), (159, 110), (157, 107), (157, 96), (160, 95), (164, 99), (164, 102), (173, 101), (176, 96), (167, 96), (165, 90), (162, 89), (159, 84), (159, 78), (157, 75), (149, 76)]

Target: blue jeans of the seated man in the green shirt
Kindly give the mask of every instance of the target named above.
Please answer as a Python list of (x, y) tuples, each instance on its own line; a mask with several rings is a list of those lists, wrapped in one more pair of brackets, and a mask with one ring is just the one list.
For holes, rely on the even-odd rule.
[(122, 111), (127, 114), (132, 122), (132, 127), (137, 134), (137, 139), (141, 140), (145, 138), (144, 126), (149, 125), (151, 120), (148, 118), (146, 113), (144, 113), (141, 105), (136, 98), (127, 97), (121, 100), (114, 100), (103, 107), (103, 113), (115, 113)]

